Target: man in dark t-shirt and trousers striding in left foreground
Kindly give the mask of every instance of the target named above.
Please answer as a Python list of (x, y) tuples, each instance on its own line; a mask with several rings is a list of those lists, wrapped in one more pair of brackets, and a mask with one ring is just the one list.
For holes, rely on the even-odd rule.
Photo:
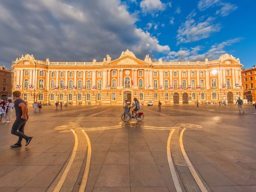
[(26, 136), (24, 134), (24, 127), (26, 125), (26, 122), (28, 120), (28, 107), (26, 106), (26, 102), (20, 98), (20, 91), (14, 91), (12, 92), (13, 98), (14, 98), (14, 108), (15, 108), (15, 114), (16, 114), (16, 120), (14, 124), (12, 125), (11, 134), (16, 135), (19, 137), (16, 144), (11, 145), (11, 148), (15, 147), (21, 147), (22, 139), (26, 140), (26, 146), (30, 144), (30, 141), (33, 137)]

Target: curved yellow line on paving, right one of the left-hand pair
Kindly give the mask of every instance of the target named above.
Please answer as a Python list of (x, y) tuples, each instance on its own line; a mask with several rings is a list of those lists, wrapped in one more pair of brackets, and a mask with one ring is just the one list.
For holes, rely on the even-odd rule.
[(82, 181), (81, 181), (78, 192), (85, 191), (86, 183), (87, 183), (88, 175), (89, 175), (89, 170), (90, 170), (90, 165), (91, 165), (91, 158), (92, 158), (92, 146), (91, 146), (90, 138), (88, 137), (88, 135), (86, 134), (85, 131), (83, 131), (83, 132), (84, 132), (84, 135), (87, 140), (88, 152), (87, 152), (87, 159), (86, 159), (86, 164), (85, 164), (85, 168), (84, 168), (84, 174), (83, 174)]

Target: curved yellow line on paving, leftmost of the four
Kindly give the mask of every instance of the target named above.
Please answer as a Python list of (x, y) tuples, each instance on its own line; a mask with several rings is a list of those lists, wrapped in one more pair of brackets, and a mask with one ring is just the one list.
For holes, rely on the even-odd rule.
[(73, 132), (74, 137), (75, 137), (75, 144), (74, 144), (72, 156), (70, 157), (68, 165), (67, 165), (65, 171), (63, 172), (63, 174), (62, 174), (62, 176), (61, 176), (61, 178), (60, 178), (60, 180), (59, 180), (58, 184), (56, 185), (53, 192), (59, 192), (60, 191), (60, 189), (61, 189), (61, 187), (62, 187), (62, 185), (63, 185), (63, 183), (64, 183), (64, 181), (65, 181), (65, 179), (68, 175), (68, 172), (69, 172), (69, 170), (72, 166), (72, 163), (75, 159), (75, 156), (76, 156), (76, 151), (77, 151), (77, 146), (78, 146), (78, 138), (77, 138), (76, 132), (73, 129), (70, 129), (70, 130)]

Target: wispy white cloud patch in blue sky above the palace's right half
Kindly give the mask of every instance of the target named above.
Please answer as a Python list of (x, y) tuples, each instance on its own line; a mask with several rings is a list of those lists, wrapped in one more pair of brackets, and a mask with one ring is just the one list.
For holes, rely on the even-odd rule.
[(193, 19), (194, 12), (187, 16), (187, 20), (181, 24), (178, 29), (177, 44), (195, 42), (204, 38), (208, 38), (210, 34), (220, 31), (220, 24), (214, 24), (215, 18), (208, 17), (205, 21), (196, 22)]

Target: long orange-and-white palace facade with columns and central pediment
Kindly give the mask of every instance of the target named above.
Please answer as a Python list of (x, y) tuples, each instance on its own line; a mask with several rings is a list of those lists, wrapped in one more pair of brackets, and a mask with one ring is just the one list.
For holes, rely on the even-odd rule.
[(126, 50), (103, 62), (51, 62), (22, 55), (13, 63), (14, 86), (28, 103), (123, 105), (134, 97), (164, 104), (207, 104), (243, 96), (239, 58), (224, 54), (204, 62), (154, 62)]

